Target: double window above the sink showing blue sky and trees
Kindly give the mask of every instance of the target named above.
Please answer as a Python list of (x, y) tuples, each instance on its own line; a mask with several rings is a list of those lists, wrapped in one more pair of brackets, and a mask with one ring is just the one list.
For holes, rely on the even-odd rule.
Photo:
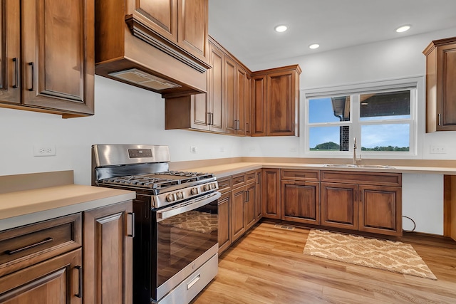
[(415, 154), (417, 84), (306, 93), (306, 151)]

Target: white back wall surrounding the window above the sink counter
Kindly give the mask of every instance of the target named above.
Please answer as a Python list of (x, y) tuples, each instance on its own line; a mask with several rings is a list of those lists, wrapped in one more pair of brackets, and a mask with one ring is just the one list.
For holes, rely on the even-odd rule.
[[(281, 61), (260, 63), (249, 66), (251, 70), (263, 70), (298, 63), (300, 76), (301, 102), (300, 115), (304, 117), (304, 93), (306, 90), (366, 83), (371, 81), (410, 78), (426, 73), (426, 58), (423, 50), (432, 41), (456, 36), (456, 28), (445, 31), (406, 36), (390, 41), (380, 41), (336, 51), (315, 53), (314, 55), (289, 58)], [(420, 98), (418, 125), (418, 159), (456, 159), (456, 132), (435, 132), (425, 134), (424, 91)], [(245, 138), (242, 154), (255, 153), (269, 157), (311, 157), (304, 152), (304, 132), (301, 137), (284, 139)], [(446, 154), (430, 154), (430, 145), (445, 145)], [(252, 151), (254, 150), (254, 151)], [(297, 152), (296, 152), (297, 150)]]

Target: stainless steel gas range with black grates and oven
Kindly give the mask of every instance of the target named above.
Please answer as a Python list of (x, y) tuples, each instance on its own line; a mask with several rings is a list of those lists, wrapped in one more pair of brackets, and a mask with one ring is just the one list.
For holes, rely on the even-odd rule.
[(217, 178), (169, 162), (167, 146), (92, 146), (92, 184), (136, 192), (135, 304), (190, 303), (217, 275)]

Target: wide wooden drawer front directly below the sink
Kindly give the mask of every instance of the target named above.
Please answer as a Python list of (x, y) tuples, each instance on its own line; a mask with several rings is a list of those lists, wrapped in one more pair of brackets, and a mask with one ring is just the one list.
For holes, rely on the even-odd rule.
[(402, 185), (402, 174), (386, 172), (321, 171), (321, 182), (400, 187)]

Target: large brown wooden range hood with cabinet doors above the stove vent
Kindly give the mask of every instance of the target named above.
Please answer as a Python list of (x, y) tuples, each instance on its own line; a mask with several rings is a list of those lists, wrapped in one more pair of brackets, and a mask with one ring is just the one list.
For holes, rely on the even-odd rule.
[(207, 13), (207, 0), (95, 1), (95, 74), (162, 98), (207, 93)]

